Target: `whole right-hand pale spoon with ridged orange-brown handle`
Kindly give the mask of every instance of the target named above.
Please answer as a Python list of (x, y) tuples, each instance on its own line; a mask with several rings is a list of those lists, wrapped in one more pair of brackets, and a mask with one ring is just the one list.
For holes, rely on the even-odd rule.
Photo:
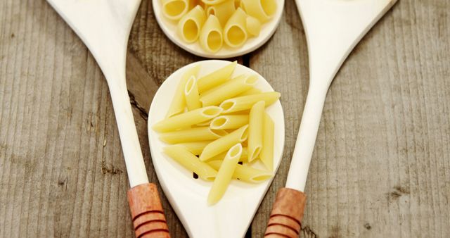
[(330, 83), (345, 58), (397, 0), (296, 0), (307, 35), (309, 92), (286, 187), (278, 191), (266, 237), (297, 237), (303, 194)]

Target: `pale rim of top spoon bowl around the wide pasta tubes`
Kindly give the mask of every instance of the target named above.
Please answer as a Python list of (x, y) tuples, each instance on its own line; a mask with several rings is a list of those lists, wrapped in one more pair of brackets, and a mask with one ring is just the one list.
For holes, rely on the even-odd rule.
[(176, 34), (176, 22), (165, 18), (162, 14), (160, 0), (153, 0), (153, 12), (155, 13), (155, 18), (158, 21), (162, 32), (164, 32), (172, 42), (174, 42), (177, 46), (180, 46), (182, 49), (191, 54), (195, 54), (196, 56), (205, 58), (233, 58), (255, 51), (266, 43), (272, 35), (274, 35), (276, 27), (278, 27), (278, 24), (281, 21), (281, 15), (283, 15), (284, 1), (285, 0), (277, 0), (278, 5), (274, 18), (269, 20), (269, 22), (262, 24), (259, 36), (249, 37), (243, 46), (236, 49), (227, 46), (224, 42), (224, 46), (222, 46), (222, 48), (216, 53), (205, 51), (202, 47), (200, 47), (198, 41), (194, 43), (184, 42), (179, 35)]

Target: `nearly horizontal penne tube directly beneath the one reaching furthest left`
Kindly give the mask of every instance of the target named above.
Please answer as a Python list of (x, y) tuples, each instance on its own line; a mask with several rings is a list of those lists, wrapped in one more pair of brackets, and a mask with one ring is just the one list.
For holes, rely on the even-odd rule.
[(162, 142), (168, 144), (177, 144), (215, 140), (224, 137), (226, 134), (228, 133), (224, 130), (214, 130), (210, 127), (195, 127), (174, 132), (160, 133), (160, 139)]

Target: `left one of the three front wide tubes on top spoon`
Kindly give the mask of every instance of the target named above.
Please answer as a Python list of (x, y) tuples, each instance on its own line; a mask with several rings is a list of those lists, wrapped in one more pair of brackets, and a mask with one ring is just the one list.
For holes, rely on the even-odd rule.
[(197, 5), (181, 18), (178, 22), (176, 32), (178, 32), (179, 37), (185, 42), (193, 43), (198, 39), (200, 29), (202, 29), (205, 20), (205, 10)]

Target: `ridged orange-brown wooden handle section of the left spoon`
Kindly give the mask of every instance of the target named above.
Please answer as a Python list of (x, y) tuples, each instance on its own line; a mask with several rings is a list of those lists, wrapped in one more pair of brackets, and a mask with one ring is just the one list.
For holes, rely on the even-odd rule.
[(136, 238), (170, 238), (156, 185), (140, 184), (127, 195)]

